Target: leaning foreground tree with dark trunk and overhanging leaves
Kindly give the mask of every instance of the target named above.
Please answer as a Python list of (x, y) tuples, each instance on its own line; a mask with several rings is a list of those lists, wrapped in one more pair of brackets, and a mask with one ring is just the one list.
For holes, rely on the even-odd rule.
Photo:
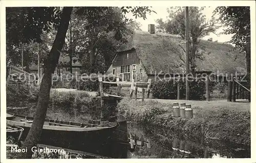
[[(52, 74), (54, 73), (54, 70), (56, 68), (56, 65), (58, 64), (58, 59), (60, 56), (60, 52), (63, 48), (63, 44), (65, 43), (66, 34), (68, 31), (68, 26), (71, 18), (71, 13), (73, 10), (73, 7), (63, 7), (62, 10), (56, 10), (56, 8), (29, 8), (31, 12), (29, 13), (22, 13), (24, 15), (27, 14), (28, 21), (27, 23), (28, 28), (31, 28), (31, 34), (36, 34), (34, 37), (31, 37), (32, 39), (38, 39), (43, 31), (50, 31), (50, 25), (54, 24), (53, 22), (56, 20), (59, 20), (59, 23), (57, 24), (57, 34), (55, 36), (51, 51), (49, 55), (47, 56), (47, 59), (45, 61), (45, 73), (41, 80), (40, 85), (40, 91), (39, 91), (39, 97), (37, 102), (36, 111), (34, 114), (34, 120), (32, 123), (32, 126), (29, 130), (29, 133), (27, 135), (27, 138), (24, 142), (24, 145), (21, 148), (27, 148), (27, 153), (19, 153), (16, 157), (17, 158), (31, 158), (32, 151), (31, 148), (33, 146), (36, 146), (40, 135), (42, 132), (42, 127), (44, 126), (44, 121), (47, 113), (47, 108), (49, 104), (49, 98), (50, 98), (50, 88), (52, 83)], [(44, 10), (42, 10), (44, 9)], [(94, 15), (96, 13), (102, 13), (104, 12), (104, 8), (81, 8), (80, 10), (77, 10), (77, 14), (83, 13), (84, 10), (90, 10), (90, 14)], [(148, 7), (124, 7), (122, 8), (122, 11), (125, 12), (132, 12), (135, 13), (136, 17), (139, 15), (139, 17), (146, 17), (146, 13), (151, 12), (151, 10)], [(26, 14), (25, 14), (26, 13)], [(51, 13), (51, 14), (49, 14)], [(53, 13), (53, 14), (52, 14)], [(56, 14), (60, 13), (60, 14)], [(59, 16), (60, 19), (59, 19)], [(96, 20), (97, 21), (97, 20)], [(94, 22), (94, 21), (93, 21)], [(11, 22), (9, 22), (11, 23)], [(9, 24), (10, 25), (10, 24)], [(7, 25), (8, 26), (8, 25)], [(109, 26), (108, 28), (114, 28), (116, 30), (119, 30), (115, 34), (116, 39), (122, 39), (122, 33), (121, 29), (119, 29), (119, 26)], [(107, 28), (107, 29), (108, 29)], [(29, 32), (29, 31), (27, 31)], [(11, 30), (9, 31), (9, 34), (11, 34)], [(9, 35), (10, 36), (10, 35)], [(27, 35), (24, 35), (27, 37)], [(30, 36), (30, 34), (28, 34)], [(31, 35), (33, 36), (33, 35)], [(13, 41), (13, 40), (11, 40)]]

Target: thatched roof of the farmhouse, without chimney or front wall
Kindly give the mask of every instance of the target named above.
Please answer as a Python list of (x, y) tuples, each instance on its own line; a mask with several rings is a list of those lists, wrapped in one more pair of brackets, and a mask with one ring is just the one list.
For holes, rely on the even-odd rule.
[[(185, 49), (184, 40), (177, 35), (135, 31), (131, 40), (123, 44), (117, 52), (135, 48), (147, 74), (155, 74), (155, 71), (157, 73), (161, 71), (163, 73), (183, 73), (185, 65), (179, 56), (181, 55), (185, 60), (185, 53), (179, 44)], [(217, 72), (219, 70), (220, 73), (236, 71), (246, 73), (245, 54), (238, 50), (234, 51), (232, 45), (205, 40), (201, 40), (199, 45), (204, 60), (196, 60), (196, 71)]]

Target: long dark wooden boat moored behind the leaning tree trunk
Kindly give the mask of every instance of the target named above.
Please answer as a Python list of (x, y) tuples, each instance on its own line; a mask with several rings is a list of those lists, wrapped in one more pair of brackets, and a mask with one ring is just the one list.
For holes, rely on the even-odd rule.
[[(33, 117), (7, 113), (6, 118), (8, 124), (24, 128), (20, 138), (24, 141), (32, 125)], [(39, 143), (100, 155), (104, 153), (108, 156), (111, 153), (106, 153), (106, 151), (111, 151), (113, 131), (119, 127), (121, 122), (125, 120), (99, 125), (46, 119)]]

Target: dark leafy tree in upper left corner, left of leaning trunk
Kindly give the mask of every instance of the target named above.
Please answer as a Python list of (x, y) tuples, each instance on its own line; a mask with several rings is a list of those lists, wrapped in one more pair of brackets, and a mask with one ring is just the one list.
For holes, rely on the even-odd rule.
[[(24, 65), (29, 71), (31, 63), (37, 61), (37, 42), (42, 43), (46, 32), (49, 33), (59, 23), (58, 9), (53, 7), (6, 8), (7, 65), (21, 66), (23, 46)], [(40, 45), (40, 48), (46, 48), (46, 46), (46, 44)], [(44, 51), (40, 50), (40, 52)]]

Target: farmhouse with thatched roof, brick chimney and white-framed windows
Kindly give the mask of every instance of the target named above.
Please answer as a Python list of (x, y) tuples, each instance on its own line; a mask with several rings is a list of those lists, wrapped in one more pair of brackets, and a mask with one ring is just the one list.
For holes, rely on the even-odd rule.
[[(123, 80), (146, 81), (156, 73), (184, 73), (185, 41), (176, 35), (155, 33), (153, 24), (148, 32), (135, 31), (128, 43), (118, 50), (112, 65), (106, 74), (114, 74)], [(245, 54), (233, 50), (230, 44), (201, 40), (199, 43), (203, 55), (196, 60), (196, 71), (220, 73), (246, 73)]]

